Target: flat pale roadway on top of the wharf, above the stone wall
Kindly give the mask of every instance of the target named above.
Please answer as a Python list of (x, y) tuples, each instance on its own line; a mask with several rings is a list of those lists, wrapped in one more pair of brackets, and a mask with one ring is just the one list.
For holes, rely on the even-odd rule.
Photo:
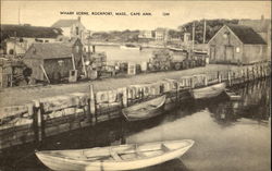
[(88, 93), (89, 84), (94, 85), (95, 91), (109, 90), (120, 87), (126, 87), (132, 84), (153, 83), (164, 78), (180, 80), (182, 76), (189, 76), (194, 74), (209, 74), (220, 71), (235, 71), (239, 66), (223, 65), (223, 64), (209, 64), (203, 68), (195, 68), (182, 71), (168, 71), (148, 74), (139, 74), (125, 77), (111, 77), (98, 80), (92, 82), (82, 82), (74, 84), (59, 84), (48, 86), (34, 86), (34, 87), (11, 87), (0, 91), (0, 108), (10, 106), (20, 106), (30, 102), (33, 99), (52, 97), (72, 93)]

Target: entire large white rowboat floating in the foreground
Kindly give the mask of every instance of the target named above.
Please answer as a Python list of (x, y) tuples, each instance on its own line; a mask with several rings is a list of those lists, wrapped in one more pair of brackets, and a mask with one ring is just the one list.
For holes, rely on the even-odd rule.
[(181, 157), (194, 141), (127, 144), (89, 149), (45, 150), (36, 156), (55, 171), (120, 171), (146, 168)]

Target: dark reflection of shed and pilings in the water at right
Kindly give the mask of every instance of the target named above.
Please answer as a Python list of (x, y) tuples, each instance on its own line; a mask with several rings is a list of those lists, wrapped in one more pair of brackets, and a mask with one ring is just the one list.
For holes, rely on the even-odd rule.
[(242, 118), (265, 123), (270, 117), (270, 82), (256, 82), (242, 87), (234, 88), (240, 100), (221, 101), (218, 105), (209, 106), (208, 109), (220, 123), (237, 122)]

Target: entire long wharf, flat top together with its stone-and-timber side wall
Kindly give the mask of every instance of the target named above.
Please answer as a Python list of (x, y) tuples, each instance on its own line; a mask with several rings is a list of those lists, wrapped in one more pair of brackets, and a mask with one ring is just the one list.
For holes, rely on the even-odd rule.
[[(201, 84), (226, 82), (232, 86), (264, 78), (270, 73), (268, 63), (208, 65), (91, 83), (7, 88), (0, 94), (1, 105), (5, 106), (0, 108), (0, 152), (16, 145), (39, 144), (46, 137), (120, 118), (124, 107), (162, 94), (166, 95), (165, 109), (171, 110), (180, 101), (188, 99), (189, 90)], [(197, 74), (207, 75), (207, 80), (194, 81), (191, 75)]]

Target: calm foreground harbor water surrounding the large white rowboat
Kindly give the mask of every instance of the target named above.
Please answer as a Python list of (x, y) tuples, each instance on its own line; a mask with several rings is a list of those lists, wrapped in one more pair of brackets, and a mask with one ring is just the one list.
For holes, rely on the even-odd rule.
[(194, 139), (180, 159), (143, 171), (268, 171), (271, 168), (270, 80), (232, 89), (242, 100), (222, 95), (180, 103), (170, 112), (141, 122), (123, 118), (14, 147), (0, 154), (1, 171), (48, 171), (35, 149), (78, 149), (119, 144)]

